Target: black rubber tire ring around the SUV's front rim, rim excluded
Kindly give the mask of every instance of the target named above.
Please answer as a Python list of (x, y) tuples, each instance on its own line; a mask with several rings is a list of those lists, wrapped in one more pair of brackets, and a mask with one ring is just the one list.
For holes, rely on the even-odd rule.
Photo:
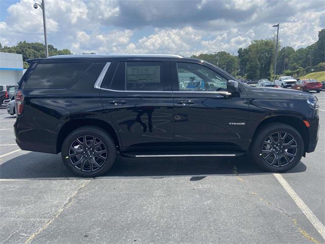
[[(298, 146), (297, 155), (295, 159), (288, 165), (282, 167), (271, 166), (267, 162), (265, 162), (262, 156), (260, 156), (260, 154), (262, 153), (262, 143), (264, 143), (266, 137), (277, 131), (286, 132), (293, 136), (297, 141)], [(257, 133), (258, 134), (254, 138), (254, 141), (251, 146), (250, 155), (258, 166), (270, 172), (284, 172), (294, 168), (300, 162), (304, 154), (304, 140), (295, 128), (286, 124), (274, 123), (261, 128), (261, 130), (259, 130)]]

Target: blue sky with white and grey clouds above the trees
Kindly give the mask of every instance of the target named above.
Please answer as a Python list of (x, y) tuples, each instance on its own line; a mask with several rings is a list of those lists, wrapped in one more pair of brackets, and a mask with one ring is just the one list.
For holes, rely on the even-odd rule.
[[(0, 42), (44, 43), (34, 0), (0, 0)], [(37, 1), (38, 2), (38, 1)], [(252, 40), (306, 47), (325, 28), (323, 0), (45, 0), (48, 44), (73, 53), (237, 54)]]

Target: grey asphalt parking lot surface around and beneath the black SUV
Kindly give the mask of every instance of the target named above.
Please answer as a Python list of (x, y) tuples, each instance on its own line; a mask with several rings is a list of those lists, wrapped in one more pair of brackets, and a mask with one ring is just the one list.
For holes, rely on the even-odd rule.
[(22, 151), (0, 110), (0, 243), (324, 243), (325, 92), (314, 153), (273, 174), (247, 157), (129, 159), (95, 179)]

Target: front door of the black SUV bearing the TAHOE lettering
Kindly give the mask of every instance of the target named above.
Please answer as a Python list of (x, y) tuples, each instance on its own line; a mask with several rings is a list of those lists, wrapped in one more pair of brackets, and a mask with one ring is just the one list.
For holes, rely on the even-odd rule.
[(172, 62), (171, 66), (174, 142), (221, 148), (241, 145), (248, 118), (244, 89), (240, 88), (239, 92), (233, 92), (230, 96), (221, 95), (231, 92), (228, 79), (213, 67), (190, 62)]

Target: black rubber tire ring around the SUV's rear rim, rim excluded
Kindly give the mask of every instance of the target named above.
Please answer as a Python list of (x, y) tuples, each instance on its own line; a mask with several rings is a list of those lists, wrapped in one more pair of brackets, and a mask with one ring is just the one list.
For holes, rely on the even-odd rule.
[[(79, 136), (83, 135), (93, 135), (98, 137), (100, 140), (103, 141), (107, 148), (108, 159), (106, 160), (105, 164), (98, 170), (92, 172), (85, 172), (77, 169), (74, 167), (69, 158), (69, 147), (73, 140), (75, 140)], [(81, 127), (72, 133), (70, 133), (67, 138), (64, 140), (61, 148), (61, 158), (64, 165), (74, 174), (81, 176), (81, 177), (96, 177), (103, 175), (106, 173), (113, 165), (115, 158), (116, 158), (116, 148), (113, 139), (102, 129), (96, 127)]]

